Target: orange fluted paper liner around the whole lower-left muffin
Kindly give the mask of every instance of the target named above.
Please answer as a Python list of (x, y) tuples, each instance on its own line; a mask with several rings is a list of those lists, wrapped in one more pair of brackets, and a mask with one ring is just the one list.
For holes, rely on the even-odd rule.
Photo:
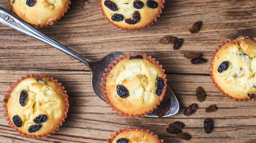
[[(5, 101), (9, 99), (9, 97), (11, 96), (11, 91), (18, 85), (18, 83), (20, 83), (22, 80), (24, 80), (24, 79), (26, 79), (26, 78), (29, 78), (29, 77), (39, 77), (39, 78), (43, 78), (43, 77), (45, 77), (45, 76), (44, 76), (43, 74), (41, 74), (41, 75), (39, 75), (39, 74), (36, 74), (36, 75), (32, 74), (32, 76), (30, 76), (30, 74), (28, 74), (27, 77), (22, 77), (21, 79), (18, 79), (17, 82), (14, 82), (14, 83), (13, 83), (13, 86), (10, 86), (11, 90), (7, 90), (8, 94), (5, 94), (5, 97), (4, 97), (4, 105), (3, 105), (3, 107), (4, 107), (4, 117), (7, 117), (6, 120), (9, 121), (8, 124), (11, 125), (11, 128), (12, 128), (12, 129), (15, 129), (15, 132), (19, 132), (19, 135), (22, 135), (22, 136), (24, 136), (24, 137), (28, 136), (29, 138), (33, 138), (33, 139), (36, 139), (37, 137), (38, 137), (39, 139), (41, 139), (42, 136), (43, 136), (43, 137), (47, 137), (47, 136), (50, 136), (51, 134), (54, 134), (55, 131), (58, 131), (58, 130), (59, 130), (59, 127), (62, 126), (62, 122), (64, 122), (64, 121), (65, 121), (65, 118), (67, 118), (67, 113), (68, 113), (68, 108), (69, 108), (68, 95), (66, 94), (67, 91), (64, 90), (64, 87), (61, 87), (61, 83), (57, 83), (58, 81), (57, 81), (56, 79), (53, 80), (53, 77), (50, 77), (50, 80), (52, 80), (52, 81), (55, 82), (58, 86), (60, 86), (60, 87), (63, 89), (63, 92), (65, 93), (65, 97), (66, 97), (66, 98), (65, 98), (65, 101), (66, 101), (66, 105), (67, 105), (66, 112), (65, 112), (65, 115), (66, 115), (66, 116), (62, 119), (63, 121), (60, 122), (61, 125), (58, 125), (58, 126), (55, 128), (55, 130), (52, 131), (52, 132), (50, 132), (50, 133), (47, 133), (47, 134), (45, 134), (45, 135), (37, 135), (37, 136), (35, 136), (35, 135), (27, 135), (27, 134), (21, 132), (20, 130), (18, 130), (18, 129), (12, 124), (11, 119), (10, 119), (10, 117), (9, 117), (9, 115), (8, 115), (8, 111), (7, 111), (7, 107), (6, 107), (6, 102), (5, 102)], [(49, 76), (48, 76), (48, 77), (49, 77)]]

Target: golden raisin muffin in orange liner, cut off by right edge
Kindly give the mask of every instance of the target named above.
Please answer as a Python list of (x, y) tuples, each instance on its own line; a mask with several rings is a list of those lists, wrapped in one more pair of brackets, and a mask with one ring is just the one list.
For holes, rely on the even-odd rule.
[(248, 37), (227, 40), (212, 58), (211, 78), (227, 97), (253, 99), (256, 94), (256, 42)]

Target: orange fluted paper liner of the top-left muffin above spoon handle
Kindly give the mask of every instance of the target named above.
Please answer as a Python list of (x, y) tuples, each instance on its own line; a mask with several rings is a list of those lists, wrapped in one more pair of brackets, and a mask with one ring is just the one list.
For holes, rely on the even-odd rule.
[[(13, 9), (12, 6), (11, 6), (10, 0), (7, 0), (7, 1), (9, 2), (9, 4), (8, 4), (9, 10), (12, 11), (12, 12), (15, 14), (14, 9)], [(59, 17), (56, 18), (55, 20), (52, 20), (52, 21), (50, 21), (50, 22), (47, 22), (46, 24), (43, 24), (43, 25), (40, 25), (40, 24), (31, 24), (31, 25), (32, 25), (32, 26), (35, 26), (35, 27), (38, 27), (38, 26), (44, 27), (44, 26), (48, 26), (48, 25), (53, 25), (53, 24), (55, 24), (58, 20), (61, 19), (61, 17), (64, 16), (64, 13), (67, 12), (67, 10), (69, 9), (69, 5), (70, 5), (70, 4), (71, 4), (71, 2), (70, 2), (70, 0), (68, 0), (68, 4), (66, 5), (65, 10), (64, 10), (64, 11), (62, 12), (62, 14), (59, 15)]]

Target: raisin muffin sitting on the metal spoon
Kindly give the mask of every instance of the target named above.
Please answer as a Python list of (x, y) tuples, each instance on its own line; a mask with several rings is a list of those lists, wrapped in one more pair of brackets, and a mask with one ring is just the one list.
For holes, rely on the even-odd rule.
[(122, 112), (122, 115), (139, 117), (157, 108), (166, 87), (166, 75), (158, 61), (155, 62), (145, 54), (125, 54), (113, 66), (105, 75), (105, 89), (107, 100), (116, 110)]

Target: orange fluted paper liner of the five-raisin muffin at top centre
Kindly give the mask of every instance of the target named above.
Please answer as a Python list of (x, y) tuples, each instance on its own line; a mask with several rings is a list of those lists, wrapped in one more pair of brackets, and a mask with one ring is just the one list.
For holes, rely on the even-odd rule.
[[(162, 3), (161, 3), (161, 5), (160, 5), (160, 9), (159, 9), (159, 12), (157, 13), (157, 16), (155, 17), (155, 20), (152, 20), (152, 21), (149, 22), (148, 24), (145, 24), (146, 27), (149, 27), (150, 25), (152, 25), (152, 24), (153, 24), (153, 21), (157, 21), (157, 17), (160, 17), (160, 14), (162, 13), (162, 10), (161, 10), (161, 9), (164, 7), (163, 4), (165, 3), (165, 0), (161, 0), (161, 1), (162, 1)], [(107, 18), (107, 16), (105, 15), (105, 13), (104, 13), (104, 11), (103, 11), (103, 8), (102, 8), (102, 6), (101, 6), (101, 0), (98, 0), (98, 2), (100, 3), (100, 4), (99, 4), (100, 11), (102, 11), (102, 15), (105, 16), (105, 19), (108, 20), (109, 23), (112, 23), (114, 26), (117, 26), (117, 25), (114, 24), (113, 22), (110, 22), (110, 20), (109, 20), (109, 19)], [(145, 28), (145, 26), (144, 26), (144, 27), (139, 27), (139, 29), (142, 29), (142, 30), (143, 30), (143, 29)], [(131, 30), (132, 32), (133, 32), (134, 30), (139, 31), (139, 29), (136, 29), (136, 28), (134, 28), (134, 29), (127, 29), (127, 28), (122, 28), (122, 27), (119, 27), (119, 26), (117, 26), (117, 28), (122, 29), (122, 30), (126, 30), (126, 31)]]

